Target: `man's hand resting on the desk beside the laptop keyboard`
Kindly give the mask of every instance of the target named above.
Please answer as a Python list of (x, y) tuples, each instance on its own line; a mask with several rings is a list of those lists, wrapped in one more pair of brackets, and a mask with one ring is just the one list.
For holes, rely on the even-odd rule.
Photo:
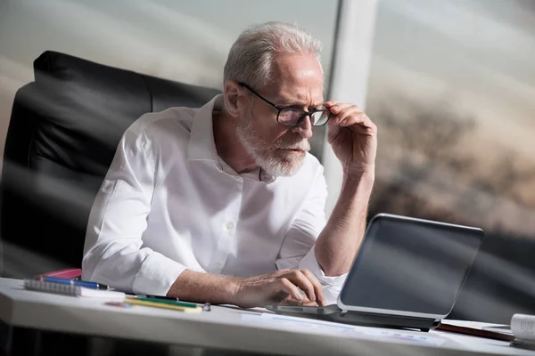
[(321, 284), (308, 270), (280, 270), (238, 280), (236, 305), (249, 308), (266, 303), (326, 305)]

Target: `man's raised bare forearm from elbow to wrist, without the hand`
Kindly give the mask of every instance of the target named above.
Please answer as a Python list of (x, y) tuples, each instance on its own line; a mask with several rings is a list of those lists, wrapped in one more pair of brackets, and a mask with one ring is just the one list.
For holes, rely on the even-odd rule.
[(374, 172), (344, 174), (342, 190), (333, 212), (316, 242), (316, 258), (327, 276), (350, 270), (366, 230), (368, 203)]

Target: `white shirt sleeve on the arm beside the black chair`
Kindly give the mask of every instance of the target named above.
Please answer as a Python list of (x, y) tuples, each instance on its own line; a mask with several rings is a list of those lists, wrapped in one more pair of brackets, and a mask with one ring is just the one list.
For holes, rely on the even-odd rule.
[(82, 278), (133, 292), (166, 295), (185, 266), (143, 247), (158, 150), (136, 123), (128, 128), (89, 214)]

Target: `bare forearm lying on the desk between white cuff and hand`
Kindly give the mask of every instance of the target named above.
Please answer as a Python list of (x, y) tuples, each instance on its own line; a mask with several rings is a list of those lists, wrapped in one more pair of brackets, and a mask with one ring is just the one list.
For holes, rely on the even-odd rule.
[(237, 288), (231, 277), (185, 270), (169, 288), (168, 295), (197, 303), (235, 304)]

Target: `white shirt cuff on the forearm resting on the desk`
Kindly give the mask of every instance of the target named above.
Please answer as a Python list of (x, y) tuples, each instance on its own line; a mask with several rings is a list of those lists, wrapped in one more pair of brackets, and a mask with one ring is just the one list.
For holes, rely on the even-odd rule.
[(136, 295), (167, 295), (185, 266), (157, 252), (148, 255), (136, 274), (132, 292)]

